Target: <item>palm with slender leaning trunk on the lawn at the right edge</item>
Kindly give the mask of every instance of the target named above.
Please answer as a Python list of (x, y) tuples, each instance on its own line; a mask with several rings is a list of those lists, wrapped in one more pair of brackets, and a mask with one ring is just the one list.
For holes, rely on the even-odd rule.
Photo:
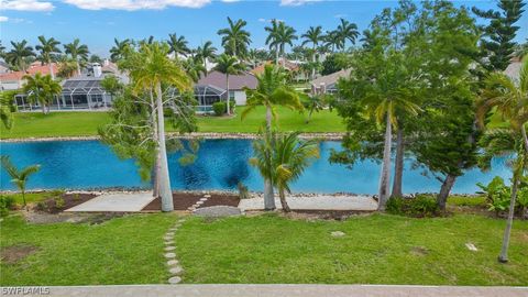
[(484, 127), (485, 114), (496, 109), (503, 119), (509, 122), (507, 129), (493, 129), (485, 133), (482, 140), (485, 148), (483, 164), (490, 165), (495, 155), (515, 155), (512, 178), (512, 198), (508, 219), (504, 231), (503, 245), (498, 261), (508, 261), (508, 246), (514, 222), (514, 210), (517, 189), (522, 172), (528, 166), (528, 138), (526, 123), (528, 121), (528, 58), (522, 62), (518, 85), (502, 73), (493, 73), (485, 80), (485, 89), (477, 101), (477, 119)]

